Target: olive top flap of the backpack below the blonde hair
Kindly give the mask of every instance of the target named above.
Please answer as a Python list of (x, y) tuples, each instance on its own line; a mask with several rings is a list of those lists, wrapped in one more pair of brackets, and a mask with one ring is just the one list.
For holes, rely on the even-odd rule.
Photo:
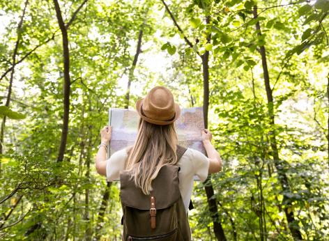
[(156, 209), (168, 208), (181, 196), (178, 187), (178, 168), (174, 165), (162, 166), (158, 176), (152, 181), (152, 195), (143, 194), (141, 189), (135, 186), (134, 180), (130, 179), (129, 171), (121, 171), (121, 202), (131, 208), (150, 210), (150, 199), (154, 196)]

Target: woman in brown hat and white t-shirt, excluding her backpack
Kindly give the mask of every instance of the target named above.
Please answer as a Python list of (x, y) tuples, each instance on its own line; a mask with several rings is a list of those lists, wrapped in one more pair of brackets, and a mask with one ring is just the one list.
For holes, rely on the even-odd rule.
[(208, 157), (198, 150), (187, 148), (178, 160), (174, 122), (180, 116), (181, 109), (174, 102), (172, 93), (163, 86), (156, 86), (145, 98), (136, 102), (136, 109), (141, 118), (134, 146), (118, 150), (106, 160), (112, 127), (105, 126), (100, 131), (101, 144), (95, 167), (98, 173), (107, 176), (107, 181), (117, 180), (122, 171), (129, 170), (135, 186), (148, 195), (152, 191), (152, 181), (158, 176), (162, 166), (179, 166), (179, 191), (185, 212), (188, 213), (193, 177), (198, 176), (204, 181), (209, 173), (222, 169), (220, 155), (211, 143), (212, 134), (206, 129), (201, 132)]

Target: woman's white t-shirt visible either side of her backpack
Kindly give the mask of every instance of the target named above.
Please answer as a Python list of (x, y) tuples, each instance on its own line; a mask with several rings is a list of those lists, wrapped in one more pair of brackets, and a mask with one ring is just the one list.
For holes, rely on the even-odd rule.
[[(123, 148), (113, 153), (113, 155), (107, 159), (106, 176), (108, 182), (120, 178), (120, 171), (123, 171), (125, 168), (127, 156), (127, 149)], [(192, 196), (193, 177), (196, 175), (204, 182), (208, 176), (209, 163), (210, 160), (206, 155), (192, 148), (188, 148), (181, 159), (178, 160), (177, 165), (181, 167), (181, 171), (178, 173), (179, 189), (186, 212), (188, 212), (188, 205), (190, 204)]]

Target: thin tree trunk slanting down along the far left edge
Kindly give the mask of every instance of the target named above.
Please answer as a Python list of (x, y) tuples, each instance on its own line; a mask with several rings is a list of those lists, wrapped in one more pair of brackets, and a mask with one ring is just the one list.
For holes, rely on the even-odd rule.
[[(15, 43), (15, 48), (13, 51), (13, 68), (11, 68), (10, 71), (10, 79), (9, 79), (9, 86), (8, 86), (8, 95), (6, 98), (6, 107), (9, 107), (10, 104), (10, 97), (12, 93), (12, 87), (13, 87), (13, 80), (14, 80), (14, 73), (15, 73), (15, 65), (16, 65), (16, 57), (17, 57), (17, 50), (18, 46), (20, 45), (20, 38), (22, 35), (22, 25), (24, 21), (24, 16), (26, 13), (26, 6), (29, 3), (29, 0), (26, 0), (24, 3), (24, 8), (23, 8), (23, 13), (20, 18), (20, 22), (17, 25), (17, 40)], [(0, 154), (3, 153), (3, 137), (4, 137), (4, 132), (5, 132), (5, 125), (6, 125), (6, 116), (3, 116), (2, 118), (2, 123), (1, 123), (1, 133), (0, 133)], [(0, 162), (0, 176), (1, 176), (1, 162)]]

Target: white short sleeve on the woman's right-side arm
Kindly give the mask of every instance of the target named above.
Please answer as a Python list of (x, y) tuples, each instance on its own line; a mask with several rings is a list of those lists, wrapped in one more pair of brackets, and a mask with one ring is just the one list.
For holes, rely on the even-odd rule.
[(208, 176), (210, 159), (199, 150), (194, 150), (192, 148), (190, 150), (194, 175), (197, 175), (201, 182), (204, 182)]

